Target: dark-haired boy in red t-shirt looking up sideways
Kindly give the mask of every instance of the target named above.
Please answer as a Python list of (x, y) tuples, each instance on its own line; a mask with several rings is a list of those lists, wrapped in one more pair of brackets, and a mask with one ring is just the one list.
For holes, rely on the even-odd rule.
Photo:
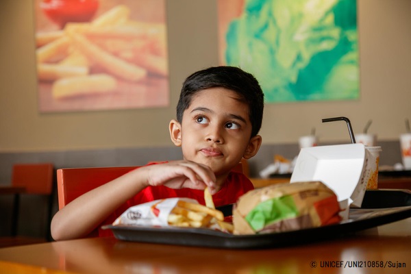
[(235, 203), (253, 189), (232, 169), (258, 152), (263, 109), (264, 94), (253, 75), (232, 66), (193, 73), (183, 84), (177, 121), (169, 125), (184, 160), (142, 166), (78, 197), (55, 214), (51, 235), (87, 236), (130, 206), (156, 199), (189, 197), (204, 204), (206, 186), (216, 206)]

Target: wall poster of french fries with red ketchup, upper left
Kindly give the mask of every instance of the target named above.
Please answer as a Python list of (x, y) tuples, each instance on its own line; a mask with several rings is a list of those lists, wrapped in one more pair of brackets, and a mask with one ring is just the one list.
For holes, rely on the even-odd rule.
[(40, 112), (169, 105), (165, 0), (36, 0)]

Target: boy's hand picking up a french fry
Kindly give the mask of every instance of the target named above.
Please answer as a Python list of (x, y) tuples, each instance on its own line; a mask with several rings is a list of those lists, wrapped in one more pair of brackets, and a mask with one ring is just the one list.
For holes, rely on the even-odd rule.
[(214, 173), (204, 164), (182, 160), (153, 164), (145, 168), (148, 169), (147, 182), (150, 186), (194, 189), (204, 189), (208, 186), (211, 194), (220, 190)]

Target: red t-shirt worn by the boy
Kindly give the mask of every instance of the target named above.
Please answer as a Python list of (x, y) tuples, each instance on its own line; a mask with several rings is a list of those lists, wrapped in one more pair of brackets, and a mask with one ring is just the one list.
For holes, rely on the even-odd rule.
[[(242, 173), (232, 171), (229, 173), (223, 188), (216, 194), (212, 195), (214, 206), (225, 206), (231, 203), (236, 203), (237, 199), (244, 195), (249, 190), (253, 190), (254, 186), (251, 181)], [(125, 210), (132, 206), (139, 205), (140, 203), (147, 203), (149, 201), (155, 201), (158, 199), (166, 198), (192, 198), (196, 199), (202, 205), (205, 205), (204, 190), (192, 189), (192, 188), (180, 188), (173, 189), (166, 186), (148, 186), (141, 192), (139, 192), (132, 199), (129, 199), (123, 206), (118, 208), (111, 214), (108, 219), (104, 221), (102, 225), (108, 225), (114, 222)], [(109, 229), (99, 228), (99, 236), (113, 236)]]

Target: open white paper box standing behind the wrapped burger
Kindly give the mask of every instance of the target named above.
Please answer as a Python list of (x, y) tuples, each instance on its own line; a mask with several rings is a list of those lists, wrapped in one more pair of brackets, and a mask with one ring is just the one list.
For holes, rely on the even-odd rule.
[(368, 153), (362, 144), (301, 149), (290, 182), (321, 181), (336, 193), (338, 201), (360, 207), (369, 173)]

